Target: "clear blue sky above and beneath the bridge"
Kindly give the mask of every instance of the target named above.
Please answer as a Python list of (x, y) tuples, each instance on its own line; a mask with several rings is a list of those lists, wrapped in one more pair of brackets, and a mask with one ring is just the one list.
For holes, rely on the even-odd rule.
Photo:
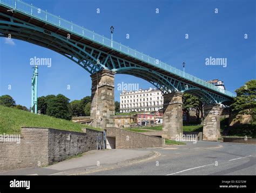
[[(255, 1), (63, 1), (26, 0), (110, 38), (123, 45), (158, 58), (203, 80), (223, 80), (227, 90), (256, 78)], [(96, 9), (100, 9), (100, 13)], [(214, 13), (214, 9), (218, 13)], [(159, 13), (156, 13), (159, 9)], [(126, 34), (130, 39), (126, 39)], [(185, 39), (188, 34), (188, 39)], [(248, 34), (248, 38), (244, 38)], [(91, 78), (83, 68), (64, 56), (28, 42), (0, 39), (0, 95), (11, 95), (17, 104), (29, 108), (31, 76), (30, 58), (51, 58), (52, 66), (39, 66), (38, 95), (63, 94), (80, 99), (91, 95)], [(227, 58), (227, 67), (206, 66), (205, 59)], [(129, 75), (116, 75), (118, 83), (152, 84)], [(11, 85), (11, 89), (9, 89)], [(70, 90), (67, 89), (70, 85)], [(115, 89), (115, 98), (119, 101)]]

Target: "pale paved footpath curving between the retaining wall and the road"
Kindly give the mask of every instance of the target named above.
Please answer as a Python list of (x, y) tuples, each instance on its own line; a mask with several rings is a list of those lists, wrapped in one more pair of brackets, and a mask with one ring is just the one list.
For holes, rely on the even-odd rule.
[(153, 159), (158, 154), (151, 150), (105, 149), (85, 152), (83, 156), (58, 162), (43, 168), (26, 168), (0, 172), (0, 175), (72, 175), (92, 170), (116, 168)]

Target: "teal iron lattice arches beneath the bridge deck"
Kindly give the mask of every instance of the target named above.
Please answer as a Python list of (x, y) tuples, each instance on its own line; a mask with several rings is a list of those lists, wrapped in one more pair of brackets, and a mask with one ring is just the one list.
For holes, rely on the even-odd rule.
[[(90, 74), (95, 74), (102, 69), (115, 71), (117, 74), (128, 74), (143, 78), (163, 92), (163, 94), (179, 91), (196, 95), (207, 104), (229, 102), (230, 98), (214, 94), (192, 84), (177, 80), (172, 76), (161, 74), (139, 63), (119, 58), (111, 53), (103, 52), (82, 42), (68, 39), (55, 32), (45, 31), (43, 27), (33, 25), (24, 20), (0, 13), (0, 37), (11, 37), (39, 45), (77, 63)], [(4, 18), (4, 19), (3, 19)], [(72, 36), (72, 34), (70, 34)]]

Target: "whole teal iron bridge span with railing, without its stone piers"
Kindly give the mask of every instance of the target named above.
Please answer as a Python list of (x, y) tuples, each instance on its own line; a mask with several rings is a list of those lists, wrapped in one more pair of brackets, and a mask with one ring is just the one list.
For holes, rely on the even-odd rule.
[[(0, 0), (0, 36), (62, 54), (90, 74), (109, 69), (152, 83), (163, 94), (190, 92), (207, 104), (229, 104), (232, 92), (19, 0)], [(70, 38), (69, 38), (70, 36)]]

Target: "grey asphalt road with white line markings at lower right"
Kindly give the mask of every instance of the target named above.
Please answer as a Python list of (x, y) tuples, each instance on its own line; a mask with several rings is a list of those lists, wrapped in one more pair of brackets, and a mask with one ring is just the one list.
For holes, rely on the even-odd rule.
[(160, 153), (157, 158), (131, 166), (88, 175), (255, 175), (256, 146), (198, 141), (197, 144), (140, 151)]

